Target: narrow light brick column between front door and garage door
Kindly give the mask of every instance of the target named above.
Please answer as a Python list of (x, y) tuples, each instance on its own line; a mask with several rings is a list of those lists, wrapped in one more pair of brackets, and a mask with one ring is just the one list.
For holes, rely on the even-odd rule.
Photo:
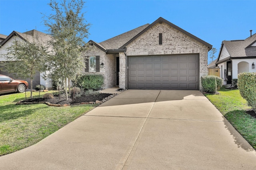
[(126, 88), (126, 55), (119, 53), (119, 88)]

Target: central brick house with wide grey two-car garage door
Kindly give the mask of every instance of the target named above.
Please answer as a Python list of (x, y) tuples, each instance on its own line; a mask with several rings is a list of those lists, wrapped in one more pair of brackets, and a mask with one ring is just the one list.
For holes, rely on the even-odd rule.
[(164, 18), (101, 43), (90, 40), (83, 74), (102, 74), (104, 88), (201, 90), (212, 45)]

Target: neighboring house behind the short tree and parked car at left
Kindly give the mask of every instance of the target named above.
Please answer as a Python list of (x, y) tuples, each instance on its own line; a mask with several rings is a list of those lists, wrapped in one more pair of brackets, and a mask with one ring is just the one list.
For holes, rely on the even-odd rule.
[[(38, 36), (38, 38), (41, 41), (47, 41), (50, 39), (49, 35), (46, 35), (45, 33), (42, 33), (35, 29), (33, 29), (31, 31), (24, 32), (24, 33), (13, 31), (8, 36), (3, 36), (2, 34), (0, 34), (0, 39), (2, 40), (0, 42), (0, 62), (5, 61), (5, 58), (3, 55), (7, 53), (6, 47), (10, 46), (12, 44), (12, 42), (15, 41), (15, 39), (18, 41), (30, 42), (30, 41), (32, 41), (33, 36), (36, 36), (36, 35)], [(2, 69), (0, 69), (0, 74), (4, 74), (6, 76), (10, 76), (10, 77), (14, 78), (13, 74), (15, 74), (15, 73), (4, 72)], [(46, 86), (47, 89), (52, 88), (52, 82), (48, 79), (44, 80), (42, 78), (42, 75), (43, 75), (42, 72), (36, 73), (34, 80), (33, 80), (32, 88), (35, 88), (36, 85), (38, 85), (38, 84), (42, 84), (42, 85)], [(26, 81), (29, 83), (29, 87), (31, 87), (30, 79), (26, 79)]]

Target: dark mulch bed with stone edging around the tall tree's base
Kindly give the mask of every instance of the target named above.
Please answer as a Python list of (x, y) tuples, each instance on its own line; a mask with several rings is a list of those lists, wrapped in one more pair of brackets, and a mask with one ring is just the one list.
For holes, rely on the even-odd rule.
[(54, 96), (54, 98), (51, 99), (44, 99), (44, 98), (32, 98), (32, 99), (26, 99), (23, 101), (20, 101), (21, 103), (28, 102), (28, 103), (33, 103), (33, 102), (48, 102), (50, 104), (80, 104), (80, 103), (85, 103), (85, 102), (96, 102), (96, 100), (102, 101), (105, 98), (108, 98), (112, 94), (106, 94), (106, 93), (100, 93), (97, 96), (89, 95), (89, 96), (80, 96), (79, 98), (68, 98), (66, 100), (65, 96), (61, 96), (60, 98), (58, 96)]

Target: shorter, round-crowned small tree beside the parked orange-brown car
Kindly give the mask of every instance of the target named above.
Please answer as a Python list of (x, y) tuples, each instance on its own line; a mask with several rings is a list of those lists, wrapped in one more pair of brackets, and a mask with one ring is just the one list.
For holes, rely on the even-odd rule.
[(15, 72), (22, 78), (30, 78), (30, 98), (32, 98), (33, 79), (36, 71), (44, 71), (47, 50), (37, 33), (32, 37), (26, 35), (25, 39), (21, 41), (16, 37), (12, 45), (6, 47), (7, 53), (4, 55), (6, 62), (3, 65), (8, 72)]

